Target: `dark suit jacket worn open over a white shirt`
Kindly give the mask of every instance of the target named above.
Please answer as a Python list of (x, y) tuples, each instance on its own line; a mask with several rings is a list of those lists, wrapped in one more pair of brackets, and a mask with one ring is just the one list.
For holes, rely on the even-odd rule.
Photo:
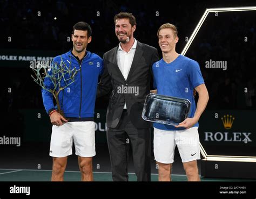
[[(125, 81), (117, 65), (118, 47), (119, 45), (103, 56), (105, 69), (97, 91), (97, 97), (111, 92), (106, 116), (107, 127), (114, 128), (118, 125), (124, 103), (126, 103), (127, 113), (134, 126), (137, 128), (151, 127), (150, 122), (142, 119), (142, 110), (145, 97), (150, 93), (151, 66), (159, 60), (157, 49), (137, 41), (131, 69)], [(125, 87), (127, 91), (138, 88), (138, 93), (128, 94)]]

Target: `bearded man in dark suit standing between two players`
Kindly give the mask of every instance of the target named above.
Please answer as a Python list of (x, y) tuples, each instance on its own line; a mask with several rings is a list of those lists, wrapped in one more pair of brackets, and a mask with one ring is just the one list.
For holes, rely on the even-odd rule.
[(114, 16), (117, 47), (104, 54), (105, 71), (98, 97), (111, 92), (107, 108), (107, 144), (113, 181), (128, 181), (129, 143), (138, 181), (150, 181), (151, 123), (142, 119), (145, 97), (150, 93), (151, 66), (159, 60), (157, 49), (133, 38), (132, 13)]

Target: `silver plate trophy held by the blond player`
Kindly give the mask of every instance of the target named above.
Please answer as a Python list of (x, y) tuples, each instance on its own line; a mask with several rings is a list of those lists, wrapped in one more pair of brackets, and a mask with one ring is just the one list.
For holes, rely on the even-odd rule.
[(178, 125), (188, 117), (190, 101), (158, 94), (148, 94), (144, 103), (142, 118), (146, 121)]

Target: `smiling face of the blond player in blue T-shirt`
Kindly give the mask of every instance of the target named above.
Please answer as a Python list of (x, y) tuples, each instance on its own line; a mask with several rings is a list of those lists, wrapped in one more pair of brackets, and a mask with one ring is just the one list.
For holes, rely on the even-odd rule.
[(161, 29), (158, 34), (158, 44), (163, 53), (175, 51), (179, 38), (174, 35), (172, 29)]

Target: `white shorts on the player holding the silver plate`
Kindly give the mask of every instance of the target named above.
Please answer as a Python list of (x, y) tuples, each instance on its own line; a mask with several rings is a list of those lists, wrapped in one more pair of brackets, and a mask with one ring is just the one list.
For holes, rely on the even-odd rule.
[(176, 145), (182, 162), (200, 160), (198, 127), (181, 131), (165, 131), (154, 127), (154, 159), (156, 161), (172, 164)]

